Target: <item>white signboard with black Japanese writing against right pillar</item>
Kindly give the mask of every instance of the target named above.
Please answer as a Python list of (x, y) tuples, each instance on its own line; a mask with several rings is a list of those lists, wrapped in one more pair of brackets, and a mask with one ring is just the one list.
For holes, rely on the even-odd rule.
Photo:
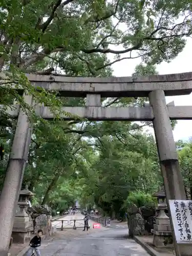
[(192, 201), (168, 200), (177, 243), (192, 242)]

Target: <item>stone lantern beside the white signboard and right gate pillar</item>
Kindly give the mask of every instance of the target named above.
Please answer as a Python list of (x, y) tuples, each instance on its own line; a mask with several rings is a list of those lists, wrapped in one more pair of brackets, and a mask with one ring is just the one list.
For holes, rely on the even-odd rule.
[(170, 221), (169, 217), (165, 214), (167, 204), (164, 187), (155, 193), (153, 197), (156, 197), (158, 201), (158, 205), (156, 207), (158, 215), (156, 217), (156, 224), (154, 224), (154, 229), (152, 230), (153, 244), (158, 248), (172, 248), (174, 245)]

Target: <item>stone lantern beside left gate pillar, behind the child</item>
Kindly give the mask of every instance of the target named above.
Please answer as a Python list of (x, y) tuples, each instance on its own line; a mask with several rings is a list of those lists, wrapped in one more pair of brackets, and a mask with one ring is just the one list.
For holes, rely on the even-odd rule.
[(31, 221), (26, 209), (29, 205), (29, 198), (33, 196), (33, 193), (28, 190), (28, 186), (25, 189), (20, 190), (18, 206), (19, 210), (15, 215), (12, 237), (16, 243), (25, 243), (30, 240), (31, 237)]

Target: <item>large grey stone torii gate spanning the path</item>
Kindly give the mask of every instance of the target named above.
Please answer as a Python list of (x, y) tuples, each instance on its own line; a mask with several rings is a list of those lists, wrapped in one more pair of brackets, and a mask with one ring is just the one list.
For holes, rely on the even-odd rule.
[[(27, 77), (34, 87), (42, 87), (48, 91), (58, 91), (60, 96), (63, 97), (87, 98), (86, 107), (62, 108), (63, 111), (81, 118), (95, 121), (153, 121), (166, 198), (167, 200), (186, 200), (170, 119), (192, 119), (192, 106), (175, 106), (174, 102), (166, 105), (165, 96), (190, 94), (192, 92), (192, 72), (110, 78), (31, 74)], [(1, 84), (3, 82), (1, 80)], [(101, 106), (101, 97), (148, 97), (150, 104), (145, 104), (142, 108), (106, 108)], [(24, 93), (24, 99), (32, 105), (33, 99), (30, 95)], [(26, 113), (19, 108), (19, 105), (14, 106), (14, 110), (8, 110), (11, 116), (17, 117), (17, 126), (0, 197), (0, 256), (5, 256), (8, 251), (13, 228), (14, 209), (23, 181), (31, 139), (31, 128)], [(42, 118), (53, 119), (54, 116), (47, 106), (39, 105), (34, 108), (36, 114)], [(66, 120), (73, 119), (73, 117), (67, 115), (63, 115), (62, 118)], [(171, 218), (170, 221), (173, 228)], [(177, 256), (186, 255), (182, 251), (182, 247), (179, 248), (176, 240), (175, 249)]]

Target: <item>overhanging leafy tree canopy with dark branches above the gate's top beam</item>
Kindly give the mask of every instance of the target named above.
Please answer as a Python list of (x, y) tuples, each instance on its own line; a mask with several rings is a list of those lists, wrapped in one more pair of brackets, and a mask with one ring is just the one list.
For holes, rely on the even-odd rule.
[[(141, 8), (139, 2), (6, 0), (1, 10), (1, 70), (17, 67), (25, 73), (47, 74), (59, 67), (66, 74), (78, 75), (83, 66), (87, 76), (95, 76), (112, 64), (108, 53), (116, 54), (113, 62), (127, 52), (131, 53), (128, 59), (172, 60), (191, 33), (190, 3), (153, 2), (156, 20), (148, 27), (148, 6)], [(182, 22), (176, 24), (179, 16)], [(122, 24), (125, 31), (120, 29)], [(113, 45), (122, 50), (113, 50)]]

